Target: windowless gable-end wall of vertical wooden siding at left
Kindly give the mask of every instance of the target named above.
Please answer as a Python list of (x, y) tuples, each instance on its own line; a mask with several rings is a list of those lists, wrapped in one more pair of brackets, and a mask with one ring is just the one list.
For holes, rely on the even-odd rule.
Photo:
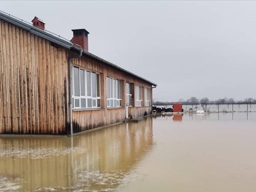
[(67, 134), (67, 51), (0, 20), (0, 133)]

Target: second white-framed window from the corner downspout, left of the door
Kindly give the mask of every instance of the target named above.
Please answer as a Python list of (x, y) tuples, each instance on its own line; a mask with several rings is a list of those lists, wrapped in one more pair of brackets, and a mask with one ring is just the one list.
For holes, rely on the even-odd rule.
[(122, 106), (121, 80), (107, 77), (107, 106)]

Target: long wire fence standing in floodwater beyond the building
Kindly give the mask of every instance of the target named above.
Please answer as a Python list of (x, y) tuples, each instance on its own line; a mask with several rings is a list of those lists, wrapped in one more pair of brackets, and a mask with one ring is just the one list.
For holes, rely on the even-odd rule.
[[(153, 106), (172, 108), (174, 103), (155, 102)], [(256, 102), (235, 102), (235, 103), (182, 103), (184, 112), (256, 112)]]

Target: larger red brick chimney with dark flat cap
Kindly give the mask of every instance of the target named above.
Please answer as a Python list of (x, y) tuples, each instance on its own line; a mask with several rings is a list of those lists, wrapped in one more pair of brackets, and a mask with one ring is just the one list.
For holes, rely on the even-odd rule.
[(88, 34), (85, 29), (73, 29), (73, 38), (71, 42), (82, 47), (85, 51), (88, 51)]

